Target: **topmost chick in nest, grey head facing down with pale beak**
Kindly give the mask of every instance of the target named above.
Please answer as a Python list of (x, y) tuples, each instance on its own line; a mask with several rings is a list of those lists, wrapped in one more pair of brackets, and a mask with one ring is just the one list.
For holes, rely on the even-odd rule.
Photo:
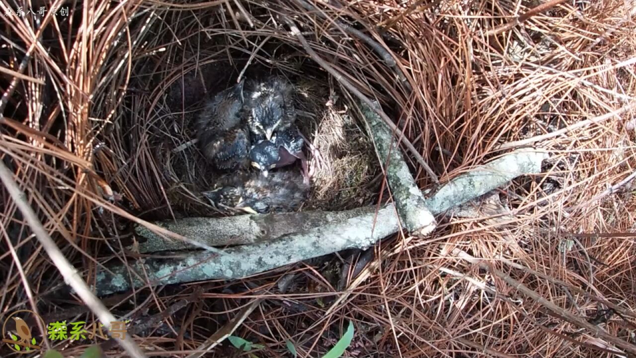
[(287, 80), (273, 76), (251, 82), (248, 87), (245, 111), (252, 134), (271, 140), (274, 131), (282, 131), (296, 121), (294, 87)]

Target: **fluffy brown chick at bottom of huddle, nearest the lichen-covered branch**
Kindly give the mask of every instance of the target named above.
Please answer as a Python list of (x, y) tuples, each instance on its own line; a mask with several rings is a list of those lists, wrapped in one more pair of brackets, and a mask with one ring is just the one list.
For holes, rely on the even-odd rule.
[(218, 189), (204, 192), (216, 208), (247, 213), (294, 211), (307, 199), (309, 187), (294, 171), (226, 176)]

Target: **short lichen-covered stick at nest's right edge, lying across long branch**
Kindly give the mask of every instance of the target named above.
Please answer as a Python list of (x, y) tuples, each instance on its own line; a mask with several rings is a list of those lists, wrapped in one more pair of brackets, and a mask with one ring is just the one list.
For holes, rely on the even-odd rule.
[(380, 161), (385, 165), (385, 174), (391, 193), (406, 230), (409, 233), (424, 236), (435, 229), (435, 218), (426, 206), (424, 196), (417, 187), (411, 175), (397, 141), (393, 140), (393, 133), (382, 118), (371, 108), (361, 103), (364, 118), (369, 125), (369, 132), (373, 135), (375, 148)]

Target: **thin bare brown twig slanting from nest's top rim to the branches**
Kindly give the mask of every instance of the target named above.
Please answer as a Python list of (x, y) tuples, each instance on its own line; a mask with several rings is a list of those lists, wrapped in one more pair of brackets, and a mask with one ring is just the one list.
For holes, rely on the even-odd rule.
[[(340, 84), (342, 84), (347, 90), (349, 90), (354, 95), (356, 95), (356, 97), (358, 97), (361, 101), (363, 101), (364, 104), (366, 104), (370, 108), (373, 108), (373, 110), (376, 113), (378, 113), (378, 115), (382, 118), (382, 120), (384, 120), (384, 122), (386, 122), (386, 124), (389, 125), (389, 127), (391, 128), (391, 131), (393, 131), (394, 133), (400, 132), (400, 131), (398, 131), (396, 125), (392, 122), (391, 118), (389, 118), (389, 116), (387, 116), (386, 113), (384, 113), (384, 111), (382, 110), (382, 108), (380, 106), (376, 106), (375, 103), (373, 103), (370, 99), (368, 99), (366, 96), (364, 96), (364, 94), (362, 92), (360, 92), (360, 90), (358, 90), (354, 85), (352, 85), (351, 82), (349, 82), (349, 80), (347, 80), (342, 75), (340, 75), (340, 73), (338, 73), (338, 71), (336, 71), (336, 69), (331, 67), (330, 64), (328, 64), (318, 54), (315, 53), (315, 51), (312, 49), (312, 47), (307, 42), (307, 39), (305, 39), (303, 34), (301, 34), (300, 29), (298, 29), (298, 27), (296, 27), (296, 25), (294, 25), (294, 23), (291, 20), (289, 20), (289, 18), (284, 17), (284, 20), (287, 22), (287, 25), (289, 25), (289, 28), (291, 29), (291, 32), (293, 32), (293, 34), (296, 35), (296, 37), (298, 38), (298, 41), (300, 41), (301, 45), (303, 46), (303, 48), (305, 49), (307, 54), (317, 64), (319, 64), (322, 68), (324, 68), (325, 71), (327, 71), (338, 82), (340, 82)], [(429, 165), (426, 164), (426, 162), (424, 161), (424, 158), (422, 157), (422, 155), (417, 151), (417, 149), (415, 149), (415, 147), (413, 147), (413, 144), (411, 144), (411, 142), (408, 141), (406, 136), (400, 135), (399, 139), (402, 141), (402, 143), (404, 143), (404, 145), (406, 146), (406, 148), (408, 148), (408, 150), (411, 152), (411, 154), (413, 154), (413, 156), (415, 157), (417, 162), (422, 166), (422, 168), (424, 168), (424, 170), (429, 175), (431, 180), (433, 182), (435, 182), (435, 183), (439, 183), (438, 177), (431, 170)]]

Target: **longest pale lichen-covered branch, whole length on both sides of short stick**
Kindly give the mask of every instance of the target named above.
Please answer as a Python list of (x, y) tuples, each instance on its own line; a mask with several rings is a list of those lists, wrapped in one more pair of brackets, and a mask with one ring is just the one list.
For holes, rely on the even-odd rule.
[[(540, 173), (541, 162), (547, 157), (545, 152), (530, 149), (517, 150), (504, 155), (485, 166), (457, 176), (440, 187), (433, 196), (425, 199), (425, 204), (433, 214), (443, 213), (453, 206), (466, 203), (470, 199), (504, 185), (516, 176)], [(137, 260), (130, 266), (120, 263), (110, 265), (106, 270), (102, 269), (97, 273), (95, 284), (97, 294), (102, 296), (146, 285), (242, 278), (348, 248), (368, 248), (378, 239), (397, 233), (399, 230), (399, 220), (393, 204), (387, 204), (377, 212), (374, 207), (357, 210), (360, 210), (359, 215), (355, 216), (351, 216), (352, 211), (340, 213), (313, 211), (305, 218), (313, 217), (312, 220), (315, 221), (303, 224), (313, 227), (312, 229), (291, 234), (284, 229), (285, 234), (277, 240), (228, 248), (225, 250), (225, 255), (215, 256), (204, 251), (181, 252), (177, 253), (179, 257), (174, 254), (166, 259), (154, 256)], [(201, 240), (218, 235), (223, 225), (227, 225), (228, 220), (239, 220), (239, 222), (253, 220), (263, 225), (270, 223), (267, 227), (268, 236), (275, 237), (276, 230), (280, 230), (279, 217), (284, 218), (282, 222), (289, 222), (294, 215), (307, 214), (200, 218), (199, 225), (205, 222), (205, 227), (214, 228), (212, 232), (204, 231), (200, 227), (182, 226), (181, 229), (196, 232), (200, 235), (197, 240)], [(319, 225), (317, 222), (328, 222), (328, 224)], [(165, 223), (162, 225), (169, 227), (165, 226)], [(226, 236), (232, 237), (233, 234)]]

